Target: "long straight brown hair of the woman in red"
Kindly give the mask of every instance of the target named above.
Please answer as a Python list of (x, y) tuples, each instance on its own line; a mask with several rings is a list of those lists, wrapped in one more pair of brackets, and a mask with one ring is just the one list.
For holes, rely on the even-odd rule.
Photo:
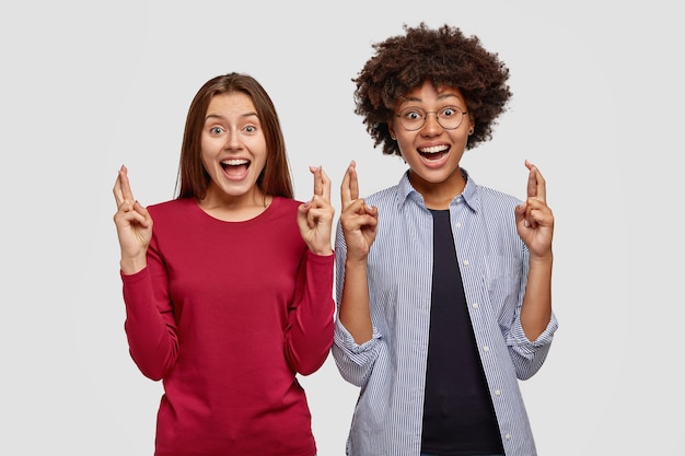
[(249, 96), (257, 109), (257, 117), (264, 128), (267, 159), (257, 178), (257, 186), (266, 195), (293, 198), (292, 180), (286, 153), (286, 142), (274, 102), (262, 84), (253, 77), (229, 73), (207, 81), (197, 92), (186, 117), (186, 126), (181, 145), (181, 161), (176, 189), (177, 199), (202, 199), (209, 187), (210, 177), (202, 165), (201, 137), (209, 102), (217, 95), (242, 92)]

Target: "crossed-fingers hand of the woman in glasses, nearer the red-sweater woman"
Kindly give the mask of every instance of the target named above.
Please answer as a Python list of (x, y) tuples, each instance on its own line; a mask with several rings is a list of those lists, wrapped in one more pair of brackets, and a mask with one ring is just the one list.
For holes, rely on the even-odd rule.
[(347, 259), (365, 261), (371, 244), (375, 239), (379, 210), (368, 206), (362, 198), (359, 198), (357, 164), (353, 161), (342, 177), (340, 200), (342, 203), (340, 224), (347, 245)]

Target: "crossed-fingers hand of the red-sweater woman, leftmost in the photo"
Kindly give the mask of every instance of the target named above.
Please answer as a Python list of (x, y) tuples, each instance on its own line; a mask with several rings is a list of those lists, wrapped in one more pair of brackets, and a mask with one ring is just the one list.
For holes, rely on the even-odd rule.
[(152, 237), (152, 218), (133, 198), (127, 173), (126, 166), (121, 166), (114, 184), (113, 192), (117, 204), (114, 223), (121, 248), (121, 272), (135, 273), (147, 265), (146, 254)]

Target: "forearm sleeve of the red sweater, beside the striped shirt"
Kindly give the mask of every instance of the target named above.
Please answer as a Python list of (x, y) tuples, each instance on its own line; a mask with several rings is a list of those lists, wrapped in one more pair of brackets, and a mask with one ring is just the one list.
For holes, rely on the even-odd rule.
[(295, 299), (288, 312), (286, 356), (302, 375), (316, 372), (333, 344), (334, 259), (334, 254), (320, 256), (306, 249), (298, 270)]

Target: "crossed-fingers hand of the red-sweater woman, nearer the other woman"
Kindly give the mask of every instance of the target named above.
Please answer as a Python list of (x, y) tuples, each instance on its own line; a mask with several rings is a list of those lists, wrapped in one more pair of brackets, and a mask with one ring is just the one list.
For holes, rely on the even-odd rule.
[(298, 225), (310, 250), (330, 255), (330, 233), (335, 209), (330, 206), (330, 179), (321, 166), (310, 166), (314, 175), (314, 195), (298, 208)]

